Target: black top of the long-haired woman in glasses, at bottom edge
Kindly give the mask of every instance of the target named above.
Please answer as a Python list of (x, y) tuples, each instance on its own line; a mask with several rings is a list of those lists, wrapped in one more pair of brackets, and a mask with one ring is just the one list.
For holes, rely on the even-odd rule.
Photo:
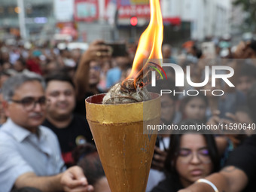
[(177, 192), (183, 189), (181, 182), (178, 179), (178, 175), (166, 175), (163, 181), (160, 181), (156, 187), (154, 187), (151, 192)]

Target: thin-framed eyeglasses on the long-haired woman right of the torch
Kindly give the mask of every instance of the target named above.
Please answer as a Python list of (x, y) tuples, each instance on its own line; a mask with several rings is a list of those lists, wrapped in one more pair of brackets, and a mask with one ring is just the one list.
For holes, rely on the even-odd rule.
[(200, 162), (211, 163), (209, 151), (206, 148), (200, 149), (195, 153), (190, 149), (181, 149), (180, 151), (178, 151), (178, 157), (180, 157), (182, 163), (190, 163), (191, 160), (193, 160), (194, 158), (194, 154), (196, 154), (197, 159), (200, 160)]

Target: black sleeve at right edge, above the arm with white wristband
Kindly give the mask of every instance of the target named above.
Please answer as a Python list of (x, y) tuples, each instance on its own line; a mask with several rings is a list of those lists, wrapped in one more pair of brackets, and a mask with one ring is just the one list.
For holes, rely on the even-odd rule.
[(230, 154), (226, 166), (236, 166), (247, 175), (248, 184), (242, 191), (256, 191), (256, 135), (245, 139), (245, 142)]

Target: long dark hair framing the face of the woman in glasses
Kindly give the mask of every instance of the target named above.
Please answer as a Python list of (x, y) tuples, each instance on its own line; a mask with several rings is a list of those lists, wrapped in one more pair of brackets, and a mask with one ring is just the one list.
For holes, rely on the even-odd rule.
[[(196, 125), (197, 123), (200, 123), (200, 122), (197, 120), (183, 120), (179, 124), (179, 126), (191, 125), (191, 124)], [(178, 175), (175, 169), (175, 163), (178, 158), (178, 151), (180, 150), (181, 136), (189, 133), (201, 134), (204, 137), (204, 139), (206, 139), (206, 145), (209, 150), (209, 156), (212, 160), (212, 165), (213, 165), (212, 172), (218, 171), (220, 160), (219, 160), (218, 149), (215, 143), (214, 136), (211, 134), (203, 134), (197, 131), (183, 130), (181, 134), (172, 134), (170, 136), (170, 145), (169, 145), (169, 150), (168, 150), (166, 161), (165, 161), (166, 173), (172, 173), (172, 174)]]

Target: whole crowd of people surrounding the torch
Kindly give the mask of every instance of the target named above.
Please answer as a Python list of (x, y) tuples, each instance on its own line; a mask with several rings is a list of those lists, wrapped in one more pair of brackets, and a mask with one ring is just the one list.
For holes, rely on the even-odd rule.
[[(160, 124), (241, 124), (246, 129), (232, 134), (159, 132), (147, 192), (256, 189), (256, 41), (233, 48), (221, 47), (223, 41), (211, 44), (214, 54), (187, 41), (175, 56), (172, 46), (163, 44), (164, 62), (181, 66), (184, 78), (189, 75), (196, 83), (204, 81), (212, 61), (212, 66), (230, 66), (234, 87), (221, 78), (213, 87), (210, 74), (203, 87), (185, 81), (181, 89), (175, 86), (175, 71), (163, 67), (166, 80), (147, 87), (157, 93), (172, 90), (161, 96)], [(93, 41), (84, 53), (0, 44), (0, 192), (111, 191), (85, 118), (84, 99), (107, 92), (130, 74), (136, 45), (127, 45), (125, 56), (113, 57), (110, 50), (104, 41)], [(191, 89), (198, 94), (181, 94)], [(212, 90), (224, 94), (215, 96)]]

